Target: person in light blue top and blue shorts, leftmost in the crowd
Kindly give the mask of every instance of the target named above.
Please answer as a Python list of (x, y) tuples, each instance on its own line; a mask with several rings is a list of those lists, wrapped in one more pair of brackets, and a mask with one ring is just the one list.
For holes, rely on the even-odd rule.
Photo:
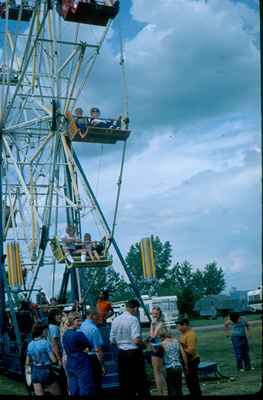
[(32, 368), (32, 384), (36, 396), (44, 396), (44, 385), (55, 396), (61, 395), (56, 375), (51, 370), (51, 364), (56, 362), (50, 344), (47, 341), (47, 325), (35, 324), (32, 329), (33, 340), (27, 348), (26, 365)]

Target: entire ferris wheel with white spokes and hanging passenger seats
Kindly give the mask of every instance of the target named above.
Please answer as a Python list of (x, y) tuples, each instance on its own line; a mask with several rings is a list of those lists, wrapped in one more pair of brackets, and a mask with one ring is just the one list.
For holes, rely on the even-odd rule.
[[(72, 298), (83, 303), (95, 278), (112, 264), (114, 249), (143, 306), (114, 237), (130, 134), (127, 98), (118, 120), (100, 119), (94, 124), (82, 110), (81, 115), (75, 111), (118, 11), (119, 1), (114, 0), (0, 3), (0, 305), (6, 298), (12, 301), (12, 290), (25, 290), (30, 299), (43, 270), (54, 296), (58, 264), (63, 267), (60, 301), (65, 301), (71, 282)], [(80, 40), (81, 24), (96, 29), (96, 40)], [(125, 78), (122, 46), (120, 54)], [(111, 225), (84, 172), (75, 142), (83, 146), (122, 143)], [(103, 237), (102, 253), (95, 261), (69, 261), (61, 243), (61, 226), (74, 226), (82, 240), (90, 216)]]

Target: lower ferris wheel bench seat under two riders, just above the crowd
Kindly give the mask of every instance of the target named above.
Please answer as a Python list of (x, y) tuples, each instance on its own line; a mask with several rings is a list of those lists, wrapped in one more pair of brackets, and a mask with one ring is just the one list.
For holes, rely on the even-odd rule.
[(86, 260), (82, 262), (80, 260), (80, 256), (74, 256), (74, 263), (71, 263), (67, 260), (65, 252), (63, 250), (63, 246), (57, 237), (50, 239), (50, 248), (53, 254), (53, 257), (57, 260), (59, 264), (66, 264), (67, 268), (98, 268), (98, 267), (109, 267), (112, 265), (112, 257), (107, 256), (106, 254), (100, 260)]

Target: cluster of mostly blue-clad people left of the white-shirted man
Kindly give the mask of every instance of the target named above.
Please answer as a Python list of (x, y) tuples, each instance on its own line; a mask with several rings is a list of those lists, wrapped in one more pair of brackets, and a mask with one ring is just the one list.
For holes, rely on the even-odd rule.
[(100, 293), (96, 308), (86, 310), (84, 320), (77, 307), (61, 311), (55, 299), (52, 303), (47, 323), (31, 324), (26, 365), (35, 394), (44, 395), (47, 388), (52, 395), (99, 396), (105, 374), (104, 328), (113, 313), (109, 292)]

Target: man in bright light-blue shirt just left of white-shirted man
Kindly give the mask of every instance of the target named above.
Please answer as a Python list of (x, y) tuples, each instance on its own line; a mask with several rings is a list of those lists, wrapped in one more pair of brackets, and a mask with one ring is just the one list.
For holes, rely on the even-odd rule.
[(97, 324), (99, 313), (96, 309), (90, 308), (87, 311), (87, 318), (82, 322), (80, 331), (84, 333), (91, 345), (90, 361), (93, 370), (95, 391), (98, 395), (101, 391), (102, 375), (105, 373), (103, 366), (103, 339)]

